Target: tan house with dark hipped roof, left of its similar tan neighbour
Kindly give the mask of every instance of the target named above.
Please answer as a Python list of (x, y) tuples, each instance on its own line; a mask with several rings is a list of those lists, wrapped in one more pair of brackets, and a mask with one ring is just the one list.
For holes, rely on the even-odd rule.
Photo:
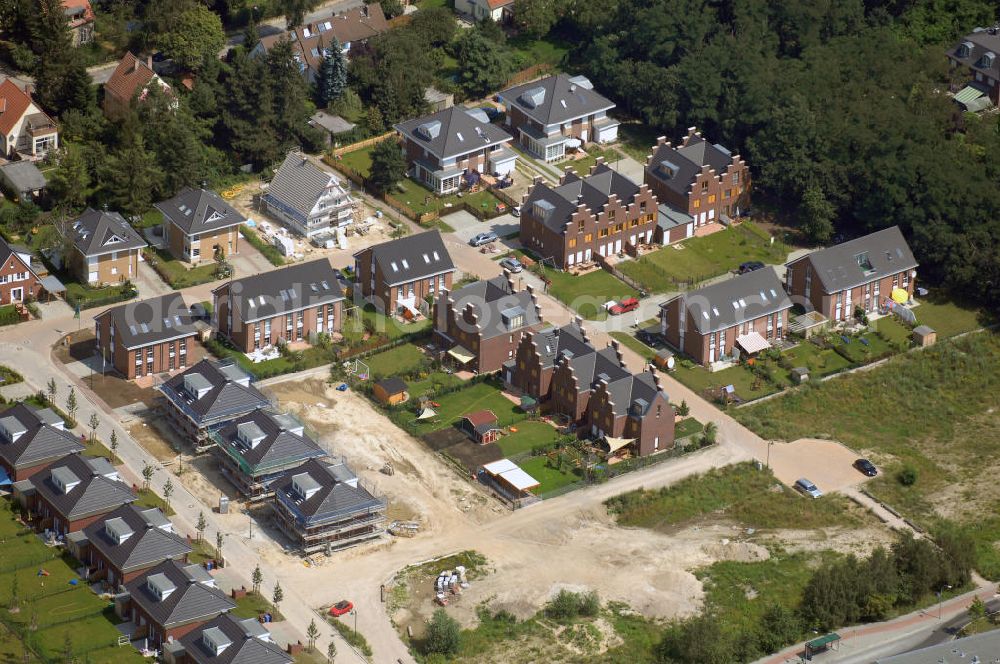
[(88, 209), (67, 229), (70, 269), (92, 286), (135, 279), (145, 240), (117, 212)]

